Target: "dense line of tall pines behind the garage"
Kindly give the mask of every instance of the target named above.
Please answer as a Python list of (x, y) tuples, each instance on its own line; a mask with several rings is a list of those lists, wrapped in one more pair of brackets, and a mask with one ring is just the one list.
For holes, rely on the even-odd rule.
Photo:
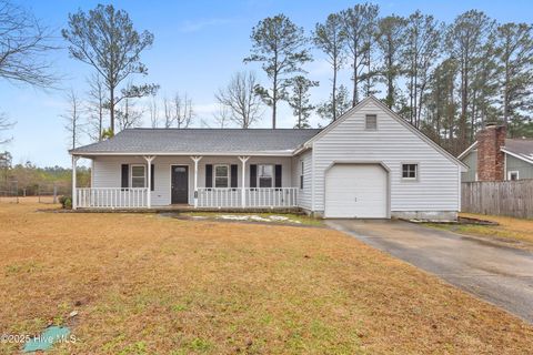
[[(452, 23), (421, 11), (383, 17), (376, 4), (361, 3), (329, 14), (310, 34), (283, 14), (266, 18), (252, 29), (251, 40), (244, 62), (261, 63), (270, 80), (254, 91), (272, 108), (273, 128), (283, 100), (293, 108), (296, 126), (306, 126), (313, 109), (308, 91), (318, 83), (305, 78), (304, 64), (315, 48), (331, 65), (330, 98), (315, 106), (326, 120), (378, 95), (455, 154), (486, 122), (507, 125), (511, 136), (533, 135), (529, 23), (499, 23), (477, 10)], [(339, 84), (342, 70), (350, 73), (350, 89)]]

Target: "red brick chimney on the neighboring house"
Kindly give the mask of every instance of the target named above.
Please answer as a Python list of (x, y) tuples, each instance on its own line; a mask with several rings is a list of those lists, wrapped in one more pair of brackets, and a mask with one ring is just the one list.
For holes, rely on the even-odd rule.
[(503, 181), (505, 178), (505, 156), (500, 150), (505, 145), (504, 125), (487, 123), (477, 133), (477, 180)]

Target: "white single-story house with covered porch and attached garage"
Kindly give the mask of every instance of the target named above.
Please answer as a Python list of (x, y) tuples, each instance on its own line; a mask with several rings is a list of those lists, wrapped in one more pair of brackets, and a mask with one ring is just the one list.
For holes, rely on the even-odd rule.
[[(375, 98), (323, 130), (131, 129), (92, 160), (73, 207), (300, 207), (325, 217), (453, 220), (466, 170)], [(73, 179), (76, 181), (76, 178)]]

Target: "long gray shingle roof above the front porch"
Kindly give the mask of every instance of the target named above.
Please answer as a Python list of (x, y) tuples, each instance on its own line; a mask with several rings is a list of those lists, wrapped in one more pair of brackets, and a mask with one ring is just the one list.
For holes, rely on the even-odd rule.
[(290, 153), (319, 132), (311, 129), (128, 129), (70, 153)]

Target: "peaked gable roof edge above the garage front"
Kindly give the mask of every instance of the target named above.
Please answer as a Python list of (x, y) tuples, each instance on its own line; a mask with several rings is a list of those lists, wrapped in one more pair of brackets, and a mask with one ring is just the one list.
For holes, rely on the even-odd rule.
[(433, 142), (428, 135), (422, 133), (419, 129), (413, 126), (411, 123), (405, 121), (403, 118), (401, 118), (398, 113), (389, 109), (383, 102), (378, 100), (375, 97), (370, 95), (363, 100), (361, 100), (356, 105), (344, 112), (339, 119), (330, 123), (328, 126), (325, 126), (322, 131), (320, 131), (316, 135), (313, 135), (309, 141), (306, 141), (303, 146), (310, 146), (314, 141), (320, 139), (321, 136), (328, 134), (329, 131), (331, 131), (333, 128), (339, 125), (342, 121), (348, 119), (353, 112), (356, 112), (361, 108), (365, 106), (368, 103), (375, 103), (378, 106), (380, 106), (383, 111), (389, 113), (394, 120), (396, 120), (400, 124), (402, 124), (404, 128), (410, 130), (412, 133), (418, 135), (421, 140), (423, 140), (425, 143), (431, 145), (433, 149), (435, 149), (439, 153), (447, 158), (452, 163), (463, 168), (464, 170), (467, 170), (469, 166), (466, 166), (462, 161), (453, 156), (451, 153), (449, 153), (445, 149)]

